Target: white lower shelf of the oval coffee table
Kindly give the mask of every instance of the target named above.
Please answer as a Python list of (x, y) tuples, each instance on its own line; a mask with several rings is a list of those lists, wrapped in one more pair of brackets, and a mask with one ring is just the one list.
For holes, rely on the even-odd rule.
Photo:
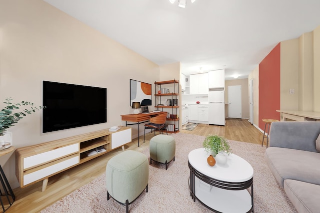
[(253, 209), (251, 195), (247, 190), (220, 189), (200, 181), (197, 177), (194, 188), (195, 199), (213, 212), (248, 213)]

